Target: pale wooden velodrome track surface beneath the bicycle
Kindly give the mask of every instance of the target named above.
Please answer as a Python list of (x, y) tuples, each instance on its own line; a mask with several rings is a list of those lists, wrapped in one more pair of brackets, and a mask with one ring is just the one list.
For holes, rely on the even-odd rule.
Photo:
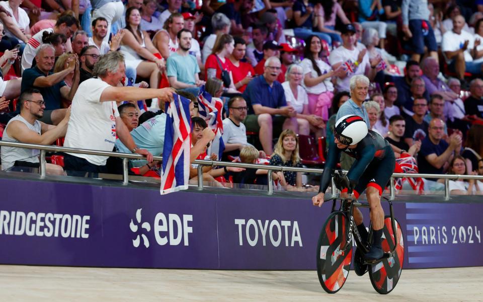
[(483, 267), (404, 270), (380, 295), (354, 271), (327, 294), (315, 271), (222, 271), (0, 265), (1, 301), (483, 301)]

